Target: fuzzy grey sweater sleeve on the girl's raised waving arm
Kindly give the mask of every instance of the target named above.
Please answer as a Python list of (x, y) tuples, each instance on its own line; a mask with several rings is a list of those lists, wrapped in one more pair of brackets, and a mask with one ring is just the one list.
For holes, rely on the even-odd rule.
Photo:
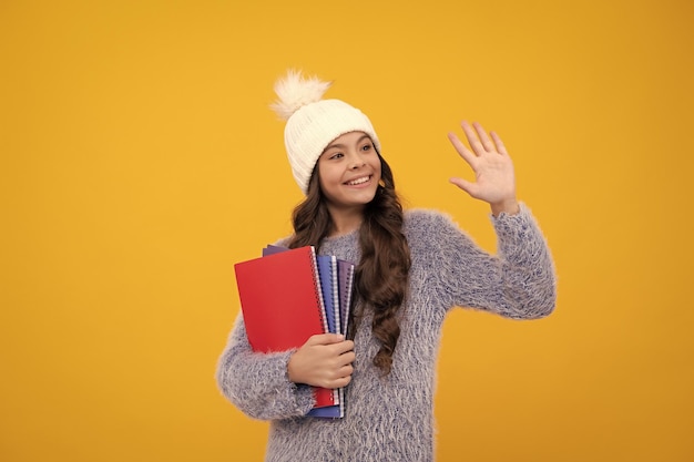
[(477, 246), (447, 215), (418, 220), (428, 238), (412, 249), (412, 257), (427, 261), (421, 277), (431, 298), (446, 309), (470, 307), (512, 319), (548, 316), (557, 299), (554, 265), (532, 214), (521, 204), (519, 214), (491, 219), (496, 255)]

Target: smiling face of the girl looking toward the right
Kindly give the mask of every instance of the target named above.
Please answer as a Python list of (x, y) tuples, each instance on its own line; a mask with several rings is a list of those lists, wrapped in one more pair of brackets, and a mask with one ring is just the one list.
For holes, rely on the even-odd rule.
[(331, 212), (361, 209), (374, 199), (380, 181), (380, 158), (364, 132), (335, 138), (318, 158), (320, 189)]

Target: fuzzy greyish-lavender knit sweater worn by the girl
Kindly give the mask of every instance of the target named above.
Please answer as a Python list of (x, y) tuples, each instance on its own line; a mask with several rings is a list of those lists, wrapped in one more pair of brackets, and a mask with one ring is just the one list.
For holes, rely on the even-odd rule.
[[(368, 312), (355, 336), (356, 361), (344, 419), (304, 417), (310, 389), (287, 379), (292, 351), (254, 353), (239, 315), (220, 358), (224, 396), (254, 419), (269, 420), (267, 462), (432, 461), (433, 394), (441, 326), (453, 307), (513, 319), (549, 315), (555, 276), (544, 237), (530, 211), (492, 217), (496, 256), (480, 249), (438, 212), (408, 211), (409, 294), (392, 371), (382, 378), (371, 359), (379, 345)], [(325, 239), (324, 255), (359, 261), (357, 234)]]

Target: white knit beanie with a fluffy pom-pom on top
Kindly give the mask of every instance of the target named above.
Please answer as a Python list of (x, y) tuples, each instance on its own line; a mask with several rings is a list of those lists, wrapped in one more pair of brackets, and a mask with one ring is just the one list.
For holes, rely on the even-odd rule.
[(340, 100), (322, 100), (330, 84), (315, 76), (305, 79), (300, 71), (294, 70), (275, 83), (278, 100), (271, 107), (287, 121), (284, 131), (287, 157), (304, 194), (318, 157), (338, 136), (364, 132), (380, 152), (374, 126), (361, 111)]

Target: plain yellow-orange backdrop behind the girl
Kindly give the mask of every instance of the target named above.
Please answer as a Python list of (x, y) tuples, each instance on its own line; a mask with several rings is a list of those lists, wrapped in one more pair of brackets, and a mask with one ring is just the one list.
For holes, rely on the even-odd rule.
[(300, 199), (272, 84), (336, 81), (407, 206), (483, 247), (448, 143), (498, 131), (555, 314), (448, 320), (439, 461), (692, 461), (688, 1), (0, 2), (0, 459), (255, 461), (214, 370), (235, 261)]

